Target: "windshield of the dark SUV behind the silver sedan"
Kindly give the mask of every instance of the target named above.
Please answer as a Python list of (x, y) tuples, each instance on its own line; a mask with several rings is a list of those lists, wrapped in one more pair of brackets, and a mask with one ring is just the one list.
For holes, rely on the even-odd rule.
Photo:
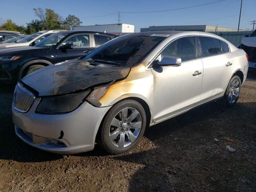
[(67, 35), (67, 33), (54, 33), (40, 41), (35, 47), (51, 48)]

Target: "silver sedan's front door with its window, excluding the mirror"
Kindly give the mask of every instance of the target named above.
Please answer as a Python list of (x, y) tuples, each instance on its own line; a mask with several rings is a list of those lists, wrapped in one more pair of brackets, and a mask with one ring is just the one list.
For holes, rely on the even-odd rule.
[[(181, 58), (181, 65), (156, 64), (166, 56)], [(200, 101), (203, 64), (194, 36), (179, 38), (168, 44), (153, 64), (156, 121)]]

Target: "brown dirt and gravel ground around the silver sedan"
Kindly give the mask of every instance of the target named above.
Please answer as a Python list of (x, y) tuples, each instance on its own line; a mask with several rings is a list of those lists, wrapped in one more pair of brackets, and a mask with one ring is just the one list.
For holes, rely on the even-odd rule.
[(28, 146), (14, 133), (13, 90), (0, 84), (1, 192), (256, 191), (256, 73), (233, 108), (212, 102), (146, 128), (138, 146), (121, 155), (98, 146), (71, 156)]

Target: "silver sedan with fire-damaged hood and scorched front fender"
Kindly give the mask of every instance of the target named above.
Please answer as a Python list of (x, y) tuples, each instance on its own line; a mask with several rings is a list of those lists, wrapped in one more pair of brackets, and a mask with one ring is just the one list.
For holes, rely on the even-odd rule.
[(60, 154), (126, 152), (153, 126), (222, 98), (238, 100), (248, 72), (244, 50), (205, 32), (120, 36), (78, 59), (18, 82), (12, 105), (18, 137)]

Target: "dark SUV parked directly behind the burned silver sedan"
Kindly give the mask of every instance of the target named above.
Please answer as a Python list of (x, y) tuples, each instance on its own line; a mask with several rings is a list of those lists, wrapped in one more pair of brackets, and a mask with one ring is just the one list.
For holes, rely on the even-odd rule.
[(117, 37), (91, 31), (54, 33), (35, 46), (0, 50), (0, 82), (17, 82), (39, 68), (84, 56)]

